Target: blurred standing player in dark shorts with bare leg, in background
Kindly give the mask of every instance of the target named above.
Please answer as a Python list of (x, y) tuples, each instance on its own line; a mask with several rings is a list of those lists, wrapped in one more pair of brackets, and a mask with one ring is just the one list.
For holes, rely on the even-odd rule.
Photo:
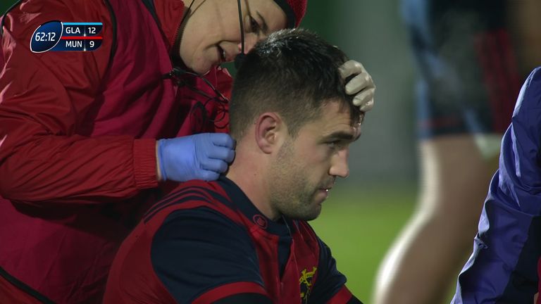
[(402, 4), (420, 75), (421, 196), (380, 265), (374, 303), (443, 303), (471, 248), (520, 84), (541, 63), (541, 6)]

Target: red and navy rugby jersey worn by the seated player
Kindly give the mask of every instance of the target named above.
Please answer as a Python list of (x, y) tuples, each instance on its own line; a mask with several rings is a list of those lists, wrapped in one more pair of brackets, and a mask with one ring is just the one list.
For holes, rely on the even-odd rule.
[(104, 303), (361, 303), (308, 223), (269, 220), (232, 181), (190, 181), (120, 247)]

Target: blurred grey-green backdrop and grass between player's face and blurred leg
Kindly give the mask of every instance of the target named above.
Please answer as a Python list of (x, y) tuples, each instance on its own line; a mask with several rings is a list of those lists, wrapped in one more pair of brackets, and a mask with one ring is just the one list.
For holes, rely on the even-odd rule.
[[(0, 11), (13, 2), (0, 1)], [(349, 289), (369, 303), (380, 260), (411, 215), (417, 192), (414, 72), (399, 1), (309, 0), (301, 27), (363, 63), (377, 86), (375, 108), (352, 145), (350, 176), (337, 182), (313, 222)]]

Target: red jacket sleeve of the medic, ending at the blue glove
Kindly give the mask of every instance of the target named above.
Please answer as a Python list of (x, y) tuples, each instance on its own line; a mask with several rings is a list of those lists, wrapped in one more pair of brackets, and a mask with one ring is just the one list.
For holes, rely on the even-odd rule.
[[(66, 2), (23, 1), (4, 18), (0, 196), (12, 201), (97, 203), (157, 186), (154, 139), (76, 134), (107, 70), (113, 29), (104, 1)], [(50, 20), (102, 22), (103, 45), (32, 53), (32, 33)]]

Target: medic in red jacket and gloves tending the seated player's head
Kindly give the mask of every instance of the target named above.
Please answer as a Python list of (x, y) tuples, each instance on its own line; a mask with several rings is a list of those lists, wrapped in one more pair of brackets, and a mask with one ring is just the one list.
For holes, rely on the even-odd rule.
[[(220, 64), (305, 11), (306, 0), (15, 4), (1, 27), (0, 302), (99, 303), (164, 182), (216, 179), (234, 158)], [(33, 53), (51, 20), (103, 23), (103, 44)], [(368, 110), (369, 75), (343, 69)]]

